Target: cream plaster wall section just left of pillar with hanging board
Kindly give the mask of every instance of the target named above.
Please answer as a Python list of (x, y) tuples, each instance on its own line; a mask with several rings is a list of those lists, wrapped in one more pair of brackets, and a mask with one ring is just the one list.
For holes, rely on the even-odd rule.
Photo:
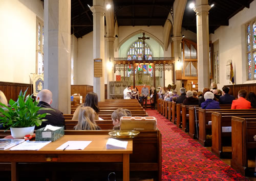
[(93, 86), (93, 32), (78, 38), (77, 84)]

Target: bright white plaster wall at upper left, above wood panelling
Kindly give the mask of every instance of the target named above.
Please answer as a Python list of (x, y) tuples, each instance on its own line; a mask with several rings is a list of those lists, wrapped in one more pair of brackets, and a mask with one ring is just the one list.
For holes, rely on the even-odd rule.
[(43, 19), (40, 0), (1, 0), (0, 81), (30, 83), (29, 75), (36, 69), (37, 15)]

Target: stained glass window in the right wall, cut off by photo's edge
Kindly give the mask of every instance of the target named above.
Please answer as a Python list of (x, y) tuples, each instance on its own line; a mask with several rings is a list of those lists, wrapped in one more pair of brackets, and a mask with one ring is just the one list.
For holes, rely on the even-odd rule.
[(252, 20), (245, 27), (248, 80), (256, 80), (256, 21)]

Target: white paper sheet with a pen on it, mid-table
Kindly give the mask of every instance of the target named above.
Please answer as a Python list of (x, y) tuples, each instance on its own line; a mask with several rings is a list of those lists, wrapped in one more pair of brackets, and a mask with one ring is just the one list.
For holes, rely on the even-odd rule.
[(64, 149), (66, 150), (74, 150), (74, 149), (81, 149), (83, 150), (86, 148), (92, 141), (67, 141), (66, 143), (62, 144), (56, 149)]

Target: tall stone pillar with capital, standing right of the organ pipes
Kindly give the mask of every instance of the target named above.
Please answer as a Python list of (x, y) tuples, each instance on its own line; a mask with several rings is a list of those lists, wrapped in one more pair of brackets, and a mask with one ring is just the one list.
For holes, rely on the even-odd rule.
[(197, 59), (198, 90), (210, 86), (209, 78), (209, 23), (208, 0), (197, 0), (194, 11), (197, 13)]

